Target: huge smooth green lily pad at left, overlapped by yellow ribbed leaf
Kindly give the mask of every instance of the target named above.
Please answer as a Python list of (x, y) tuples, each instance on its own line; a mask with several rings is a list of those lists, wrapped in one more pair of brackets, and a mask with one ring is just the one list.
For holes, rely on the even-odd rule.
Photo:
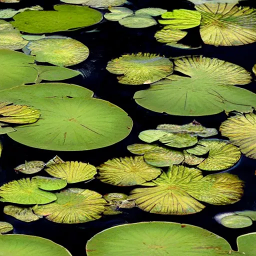
[(50, 150), (89, 150), (126, 137), (132, 120), (121, 108), (92, 98), (78, 85), (40, 83), (1, 91), (0, 99), (28, 103), (41, 112), (34, 125), (16, 127), (8, 135), (19, 143)]

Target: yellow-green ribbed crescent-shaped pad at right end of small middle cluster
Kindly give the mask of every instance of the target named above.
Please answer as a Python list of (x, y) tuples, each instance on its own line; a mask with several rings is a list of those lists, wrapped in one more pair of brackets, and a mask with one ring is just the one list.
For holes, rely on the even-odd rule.
[(209, 154), (197, 168), (201, 170), (223, 170), (232, 167), (241, 157), (238, 147), (219, 139), (201, 139), (200, 145), (209, 149)]

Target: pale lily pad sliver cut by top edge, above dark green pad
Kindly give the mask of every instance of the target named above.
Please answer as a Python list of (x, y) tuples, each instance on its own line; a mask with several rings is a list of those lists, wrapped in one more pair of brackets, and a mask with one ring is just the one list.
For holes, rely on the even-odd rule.
[(65, 3), (82, 4), (96, 8), (107, 8), (109, 6), (119, 6), (126, 3), (126, 0), (60, 0)]

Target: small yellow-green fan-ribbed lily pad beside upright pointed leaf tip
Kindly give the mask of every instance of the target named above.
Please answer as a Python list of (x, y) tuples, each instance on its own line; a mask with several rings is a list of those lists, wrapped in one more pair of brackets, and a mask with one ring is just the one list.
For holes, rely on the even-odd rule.
[(93, 165), (78, 161), (51, 164), (45, 171), (51, 176), (65, 179), (69, 184), (92, 179), (97, 173)]

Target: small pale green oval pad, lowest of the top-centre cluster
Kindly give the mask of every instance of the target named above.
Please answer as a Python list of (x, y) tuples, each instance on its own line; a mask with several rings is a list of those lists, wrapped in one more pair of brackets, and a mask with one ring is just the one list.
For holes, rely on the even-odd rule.
[(118, 22), (120, 25), (129, 28), (145, 28), (157, 24), (156, 20), (152, 16), (146, 14), (129, 15), (118, 20)]

